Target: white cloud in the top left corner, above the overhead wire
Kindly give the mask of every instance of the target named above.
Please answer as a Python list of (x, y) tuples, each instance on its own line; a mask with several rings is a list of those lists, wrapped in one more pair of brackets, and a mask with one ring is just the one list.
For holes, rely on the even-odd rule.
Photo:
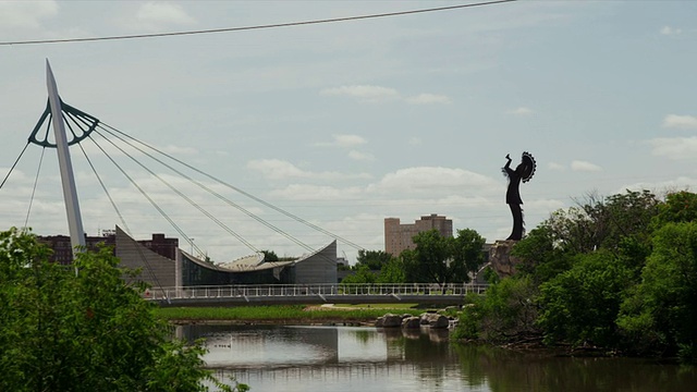
[(39, 28), (58, 10), (56, 1), (0, 1), (0, 29)]

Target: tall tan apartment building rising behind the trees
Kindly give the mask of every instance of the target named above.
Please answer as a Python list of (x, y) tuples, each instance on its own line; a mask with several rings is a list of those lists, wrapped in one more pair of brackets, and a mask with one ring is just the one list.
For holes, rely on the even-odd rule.
[(453, 221), (445, 217), (431, 213), (424, 216), (414, 223), (400, 223), (400, 218), (384, 219), (384, 252), (399, 256), (404, 249), (414, 249), (414, 235), (429, 230), (438, 230), (442, 236), (453, 236)]

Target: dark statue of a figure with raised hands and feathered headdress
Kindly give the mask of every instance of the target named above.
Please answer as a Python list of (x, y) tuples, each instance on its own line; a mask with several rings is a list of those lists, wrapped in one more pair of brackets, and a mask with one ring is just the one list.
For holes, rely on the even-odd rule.
[(506, 240), (519, 241), (523, 238), (523, 234), (525, 234), (525, 222), (523, 221), (523, 200), (521, 199), (521, 191), (518, 187), (521, 186), (521, 181), (524, 183), (530, 181), (535, 174), (537, 163), (535, 162), (535, 158), (527, 151), (523, 152), (521, 164), (518, 164), (515, 170), (511, 169), (511, 156), (506, 155), (505, 159), (508, 159), (508, 162), (505, 162), (502, 169), (503, 174), (509, 177), (505, 203), (511, 208), (511, 213), (513, 215), (513, 231)]

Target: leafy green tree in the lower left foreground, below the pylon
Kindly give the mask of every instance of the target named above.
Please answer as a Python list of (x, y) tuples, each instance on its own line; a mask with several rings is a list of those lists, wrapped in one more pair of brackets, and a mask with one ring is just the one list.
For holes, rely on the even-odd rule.
[(49, 253), (34, 235), (0, 233), (0, 390), (206, 391), (206, 380), (233, 390), (204, 368), (200, 342), (171, 339), (109, 248), (70, 267)]

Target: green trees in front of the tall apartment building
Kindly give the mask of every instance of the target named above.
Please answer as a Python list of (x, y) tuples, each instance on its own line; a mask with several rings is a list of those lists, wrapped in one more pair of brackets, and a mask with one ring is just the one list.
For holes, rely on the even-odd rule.
[(474, 230), (458, 230), (457, 237), (445, 237), (437, 230), (414, 236), (416, 249), (400, 255), (407, 282), (439, 283), (469, 282), (469, 272), (485, 260), (485, 238)]

